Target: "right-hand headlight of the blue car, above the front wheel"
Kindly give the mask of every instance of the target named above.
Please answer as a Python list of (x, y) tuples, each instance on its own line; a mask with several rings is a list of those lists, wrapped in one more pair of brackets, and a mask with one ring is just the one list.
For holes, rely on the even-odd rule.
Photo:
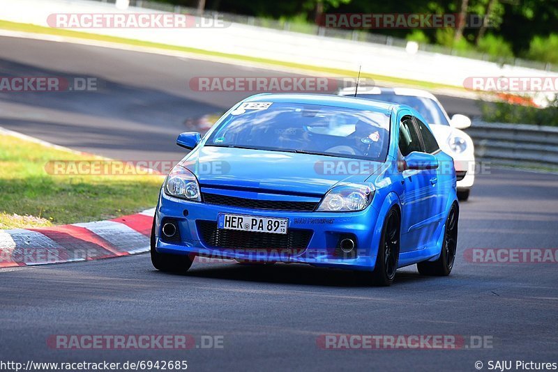
[(374, 186), (349, 183), (333, 187), (324, 196), (317, 212), (355, 212), (370, 206), (374, 197)]

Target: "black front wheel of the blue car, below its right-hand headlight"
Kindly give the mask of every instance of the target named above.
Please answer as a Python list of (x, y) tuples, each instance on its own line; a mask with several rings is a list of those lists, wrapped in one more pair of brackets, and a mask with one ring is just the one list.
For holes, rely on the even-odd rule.
[(374, 271), (359, 272), (360, 279), (373, 286), (391, 286), (399, 263), (400, 231), (399, 212), (392, 208), (384, 219)]

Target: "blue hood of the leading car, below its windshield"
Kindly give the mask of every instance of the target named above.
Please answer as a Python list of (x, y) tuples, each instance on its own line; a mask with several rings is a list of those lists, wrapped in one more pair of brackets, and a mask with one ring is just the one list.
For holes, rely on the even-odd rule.
[(342, 157), (203, 146), (181, 165), (200, 187), (257, 189), (259, 192), (323, 196), (340, 183), (362, 183), (382, 163)]

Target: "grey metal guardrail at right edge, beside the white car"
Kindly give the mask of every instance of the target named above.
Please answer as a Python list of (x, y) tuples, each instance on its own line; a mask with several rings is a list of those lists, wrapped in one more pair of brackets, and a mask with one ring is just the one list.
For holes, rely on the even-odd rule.
[(475, 121), (465, 132), (478, 160), (558, 169), (558, 127)]

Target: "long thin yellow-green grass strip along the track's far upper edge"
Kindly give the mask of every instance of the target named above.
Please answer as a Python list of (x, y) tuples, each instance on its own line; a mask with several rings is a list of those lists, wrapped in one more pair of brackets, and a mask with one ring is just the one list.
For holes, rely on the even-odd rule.
[[(53, 29), (51, 27), (36, 26), (35, 24), (23, 24), (23, 23), (0, 20), (0, 29), (10, 30), (10, 31), (32, 32), (32, 33), (45, 33), (48, 35), (67, 36), (70, 38), (82, 38), (86, 40), (117, 42), (119, 44), (125, 44), (125, 45), (135, 45), (139, 47), (151, 47), (156, 49), (165, 49), (165, 50), (172, 50), (178, 52), (188, 52), (188, 53), (202, 54), (206, 56), (218, 56), (218, 57), (224, 57), (229, 59), (236, 59), (239, 61), (250, 61), (255, 63), (264, 63), (266, 65), (276, 65), (276, 66), (287, 67), (287, 68), (296, 68), (301, 70), (308, 70), (309, 72), (322, 72), (322, 73), (327, 73), (332, 75), (338, 75), (341, 77), (356, 77), (356, 71), (353, 70), (342, 70), (338, 68), (322, 68), (315, 65), (305, 65), (303, 63), (276, 61), (273, 59), (243, 56), (241, 54), (213, 52), (209, 50), (197, 49), (191, 47), (179, 47), (176, 45), (167, 45), (159, 42), (148, 42), (148, 41), (134, 40), (128, 38), (119, 38), (116, 36), (98, 35), (94, 33), (86, 33), (86, 32), (66, 30), (66, 29)], [(400, 84), (400, 85), (413, 86), (416, 88), (425, 88), (425, 89), (451, 88), (456, 91), (465, 91), (465, 88), (459, 86), (435, 84), (430, 82), (423, 82), (420, 80), (402, 79), (398, 77), (389, 77), (384, 75), (362, 73), (361, 77), (373, 79), (376, 82), (381, 82), (384, 84)]]

